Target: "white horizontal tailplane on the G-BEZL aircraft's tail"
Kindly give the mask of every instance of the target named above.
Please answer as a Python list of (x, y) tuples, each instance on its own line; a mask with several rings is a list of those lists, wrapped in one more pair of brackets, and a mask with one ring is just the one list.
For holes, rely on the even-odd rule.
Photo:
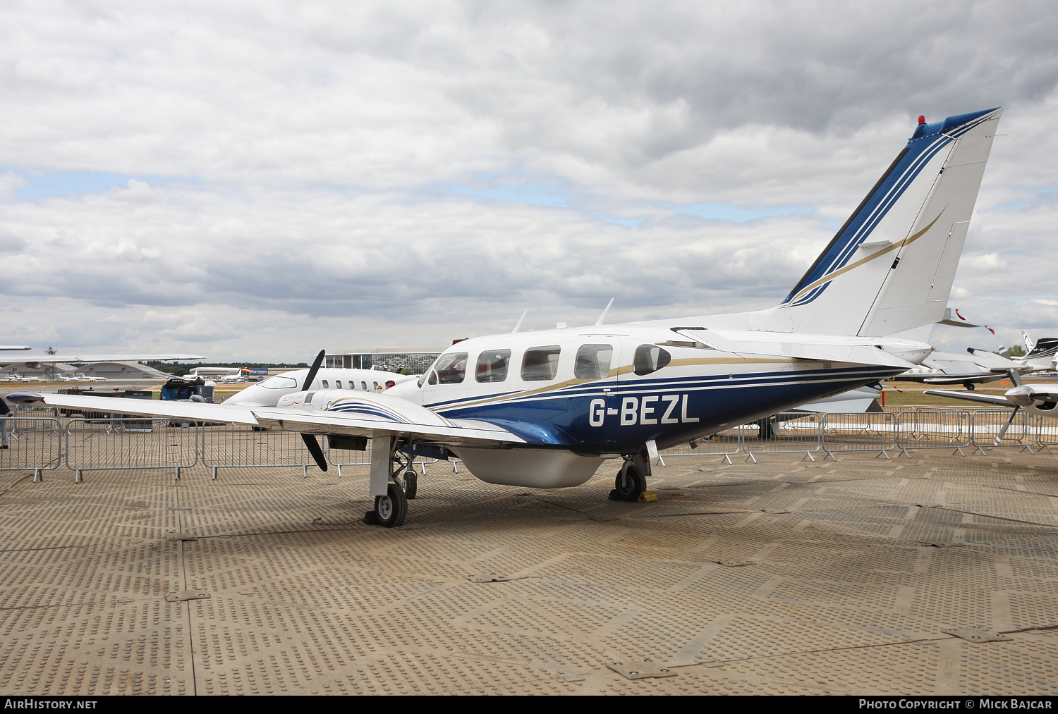
[[(770, 354), (820, 362), (851, 362), (855, 364), (904, 367), (915, 365), (883, 349), (875, 347), (868, 338), (847, 338), (829, 335), (802, 335), (780, 332), (734, 332), (728, 330), (678, 329), (679, 334), (709, 345), (722, 352), (734, 354)], [(785, 337), (785, 338), (783, 338)], [(877, 342), (877, 341), (875, 341)]]

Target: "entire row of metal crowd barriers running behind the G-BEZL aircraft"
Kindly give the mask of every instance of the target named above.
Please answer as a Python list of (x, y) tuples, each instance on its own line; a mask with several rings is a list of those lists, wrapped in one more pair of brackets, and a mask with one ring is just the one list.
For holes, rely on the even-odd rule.
[[(194, 422), (183, 422), (185, 427), (181, 428), (181, 422), (139, 417), (26, 416), (51, 413), (52, 408), (18, 406), (17, 416), (6, 420), (11, 447), (0, 451), (0, 471), (32, 470), (35, 481), (43, 471), (57, 469), (63, 461), (75, 472), (77, 482), (84, 472), (102, 470), (172, 469), (180, 478), (180, 471), (195, 465), (199, 458), (213, 470), (214, 479), (219, 469), (269, 466), (300, 466), (307, 477), (309, 466), (314, 465), (296, 432)], [(755, 463), (762, 454), (803, 453), (802, 460), (815, 461), (814, 454), (820, 451), (825, 452), (824, 459), (835, 460), (839, 452), (877, 452), (876, 457), (889, 458), (893, 448), (909, 458), (910, 452), (918, 448), (951, 448), (953, 454), (965, 456), (963, 450), (972, 446), (974, 453), (984, 454), (986, 447), (997, 445), (996, 436), (1009, 416), (1008, 409), (935, 407), (881, 414), (786, 413), (697, 439), (693, 446), (667, 448), (659, 456), (720, 456), (731, 463), (732, 456), (745, 453), (745, 460)], [(326, 440), (321, 441), (339, 476), (343, 466), (370, 464), (370, 451), (331, 450)], [(1058, 424), (1019, 413), (999, 445), (1050, 451), (1051, 445), (1058, 445)], [(417, 462), (425, 475), (426, 464), (437, 460)], [(458, 472), (458, 459), (452, 459), (453, 471)]]

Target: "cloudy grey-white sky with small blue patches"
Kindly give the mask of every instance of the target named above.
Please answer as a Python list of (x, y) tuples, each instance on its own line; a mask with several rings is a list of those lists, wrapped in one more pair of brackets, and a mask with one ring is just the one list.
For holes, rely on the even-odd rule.
[(1005, 107), (950, 304), (1058, 336), (1046, 2), (0, 4), (0, 343), (305, 361), (766, 308)]

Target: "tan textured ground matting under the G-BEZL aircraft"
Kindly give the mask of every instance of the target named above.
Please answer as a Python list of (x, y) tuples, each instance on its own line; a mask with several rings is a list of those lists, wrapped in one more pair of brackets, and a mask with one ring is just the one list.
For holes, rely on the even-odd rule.
[(0, 474), (0, 692), (1058, 690), (1058, 456), (616, 469), (434, 464), (394, 530), (366, 469)]

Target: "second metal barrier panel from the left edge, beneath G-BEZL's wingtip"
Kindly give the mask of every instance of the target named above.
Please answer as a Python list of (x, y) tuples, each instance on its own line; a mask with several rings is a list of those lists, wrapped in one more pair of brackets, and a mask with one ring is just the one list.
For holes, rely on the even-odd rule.
[(66, 424), (66, 463), (79, 483), (85, 471), (181, 469), (198, 462), (198, 431), (168, 419), (74, 418)]

